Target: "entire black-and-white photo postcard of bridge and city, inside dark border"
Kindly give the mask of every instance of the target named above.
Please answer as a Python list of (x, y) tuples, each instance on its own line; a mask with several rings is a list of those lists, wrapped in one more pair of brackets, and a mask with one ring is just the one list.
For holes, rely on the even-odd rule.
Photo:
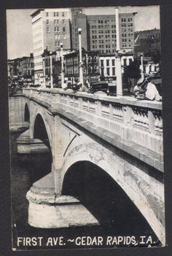
[(160, 6), (6, 14), (12, 250), (165, 247)]

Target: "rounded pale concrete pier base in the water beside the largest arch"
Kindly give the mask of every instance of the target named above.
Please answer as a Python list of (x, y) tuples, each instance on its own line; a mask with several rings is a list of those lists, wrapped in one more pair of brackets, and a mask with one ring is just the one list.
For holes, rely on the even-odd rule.
[(54, 184), (51, 172), (34, 182), (28, 191), (26, 198), (29, 201), (29, 225), (35, 228), (68, 228), (99, 224), (77, 198), (56, 195)]

